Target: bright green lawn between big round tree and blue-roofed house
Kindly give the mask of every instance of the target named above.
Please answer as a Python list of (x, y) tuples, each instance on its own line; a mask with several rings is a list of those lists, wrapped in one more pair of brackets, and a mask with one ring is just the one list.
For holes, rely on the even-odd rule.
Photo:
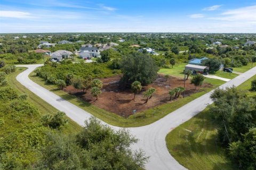
[(173, 68), (171, 69), (160, 69), (158, 71), (158, 73), (162, 73), (162, 74), (170, 74), (170, 75), (174, 75), (176, 77), (184, 77), (184, 73), (183, 70), (185, 69), (185, 66), (187, 65), (187, 63), (180, 63), (180, 64), (175, 64), (173, 66)]

